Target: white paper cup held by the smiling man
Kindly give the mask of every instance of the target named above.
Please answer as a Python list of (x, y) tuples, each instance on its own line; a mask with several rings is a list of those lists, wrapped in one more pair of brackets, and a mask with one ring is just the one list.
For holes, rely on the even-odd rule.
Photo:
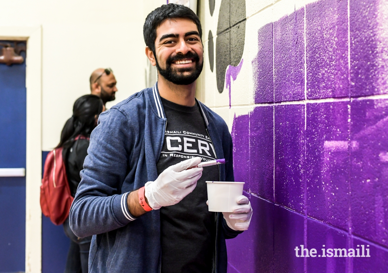
[(206, 181), (208, 187), (209, 211), (232, 212), (236, 199), (242, 195), (244, 182)]

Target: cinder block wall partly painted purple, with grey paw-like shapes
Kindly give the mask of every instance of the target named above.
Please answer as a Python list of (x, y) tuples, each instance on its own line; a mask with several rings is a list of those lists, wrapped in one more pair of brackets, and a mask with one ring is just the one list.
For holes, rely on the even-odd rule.
[(254, 210), (228, 272), (388, 272), (388, 2), (202, 0), (199, 16), (197, 97), (229, 125)]

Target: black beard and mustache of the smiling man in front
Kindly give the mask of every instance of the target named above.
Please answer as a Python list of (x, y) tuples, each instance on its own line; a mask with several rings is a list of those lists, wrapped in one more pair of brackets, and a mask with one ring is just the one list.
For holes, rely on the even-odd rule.
[[(154, 54), (156, 56), (156, 54)], [(193, 68), (171, 68), (171, 64), (175, 61), (182, 61), (183, 59), (194, 59), (196, 65)], [(203, 68), (203, 62), (199, 63), (198, 54), (195, 52), (187, 52), (187, 54), (177, 54), (175, 56), (170, 56), (166, 60), (166, 69), (162, 69), (159, 66), (158, 59), (155, 58), (156, 68), (158, 68), (158, 72), (169, 82), (175, 83), (177, 85), (188, 85), (193, 83), (201, 74)], [(184, 75), (184, 72), (192, 71), (189, 75)]]

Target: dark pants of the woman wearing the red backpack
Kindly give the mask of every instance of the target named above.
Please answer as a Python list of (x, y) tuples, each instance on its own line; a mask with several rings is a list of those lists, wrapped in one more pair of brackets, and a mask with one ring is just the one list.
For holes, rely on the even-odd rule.
[(85, 238), (77, 237), (70, 229), (69, 218), (63, 223), (63, 229), (66, 236), (70, 238), (70, 248), (64, 273), (88, 273), (89, 250), (92, 236)]

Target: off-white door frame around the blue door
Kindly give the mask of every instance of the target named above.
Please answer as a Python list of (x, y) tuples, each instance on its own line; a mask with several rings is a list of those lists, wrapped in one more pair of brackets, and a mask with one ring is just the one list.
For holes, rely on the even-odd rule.
[(42, 27), (0, 26), (0, 40), (27, 40), (26, 273), (42, 272)]

